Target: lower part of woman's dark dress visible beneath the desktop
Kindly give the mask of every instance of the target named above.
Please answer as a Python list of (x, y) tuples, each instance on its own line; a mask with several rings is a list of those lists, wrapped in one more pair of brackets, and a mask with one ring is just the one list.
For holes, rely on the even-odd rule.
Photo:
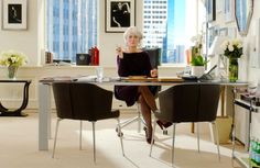
[[(149, 86), (148, 88), (153, 96), (159, 91), (158, 86)], [(132, 107), (140, 96), (138, 86), (115, 86), (113, 90), (116, 99), (123, 100), (128, 107)]]

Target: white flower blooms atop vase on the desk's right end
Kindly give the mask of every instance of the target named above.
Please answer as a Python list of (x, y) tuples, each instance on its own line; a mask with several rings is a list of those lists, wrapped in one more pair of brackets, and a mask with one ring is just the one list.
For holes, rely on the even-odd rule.
[(228, 58), (240, 58), (242, 56), (242, 41), (238, 38), (225, 41), (220, 47)]

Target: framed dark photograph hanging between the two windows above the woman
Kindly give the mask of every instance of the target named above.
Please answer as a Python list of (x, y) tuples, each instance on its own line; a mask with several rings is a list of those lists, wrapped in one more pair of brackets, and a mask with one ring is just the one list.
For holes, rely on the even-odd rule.
[(136, 0), (106, 0), (106, 32), (120, 33), (136, 25)]

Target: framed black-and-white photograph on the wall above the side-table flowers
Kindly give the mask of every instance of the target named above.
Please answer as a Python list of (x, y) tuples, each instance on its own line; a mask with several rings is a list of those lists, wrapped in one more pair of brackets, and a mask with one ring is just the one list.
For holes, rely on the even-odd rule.
[(2, 29), (26, 30), (28, 0), (2, 0)]

